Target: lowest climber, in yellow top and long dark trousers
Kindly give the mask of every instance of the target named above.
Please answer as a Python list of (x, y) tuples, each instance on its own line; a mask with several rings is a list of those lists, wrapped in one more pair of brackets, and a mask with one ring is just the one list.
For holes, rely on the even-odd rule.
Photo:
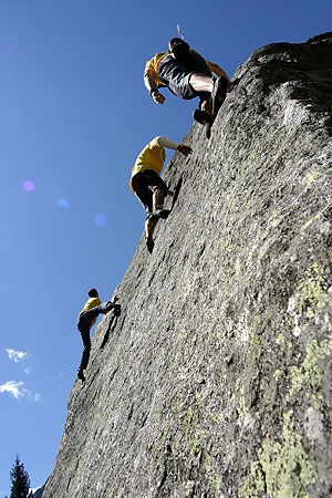
[(96, 319), (100, 314), (106, 314), (111, 310), (114, 310), (114, 314), (116, 315), (118, 315), (121, 312), (121, 305), (116, 304), (116, 301), (118, 300), (117, 295), (114, 295), (111, 301), (102, 302), (100, 300), (98, 292), (96, 289), (90, 289), (87, 294), (89, 300), (84, 304), (77, 321), (77, 329), (81, 332), (84, 346), (81, 356), (81, 363), (77, 371), (77, 377), (81, 378), (82, 382), (85, 381), (84, 370), (86, 370), (90, 359), (90, 350), (91, 350), (90, 330), (95, 324)]

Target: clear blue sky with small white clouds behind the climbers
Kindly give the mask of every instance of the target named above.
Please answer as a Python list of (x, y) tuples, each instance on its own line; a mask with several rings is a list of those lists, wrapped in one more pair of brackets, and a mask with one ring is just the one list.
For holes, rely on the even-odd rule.
[(32, 487), (52, 470), (77, 313), (90, 287), (112, 295), (142, 235), (127, 187), (137, 154), (193, 122), (195, 102), (151, 100), (145, 61), (179, 24), (232, 76), (256, 49), (304, 42), (331, 19), (331, 0), (0, 0), (0, 498), (17, 453)]

